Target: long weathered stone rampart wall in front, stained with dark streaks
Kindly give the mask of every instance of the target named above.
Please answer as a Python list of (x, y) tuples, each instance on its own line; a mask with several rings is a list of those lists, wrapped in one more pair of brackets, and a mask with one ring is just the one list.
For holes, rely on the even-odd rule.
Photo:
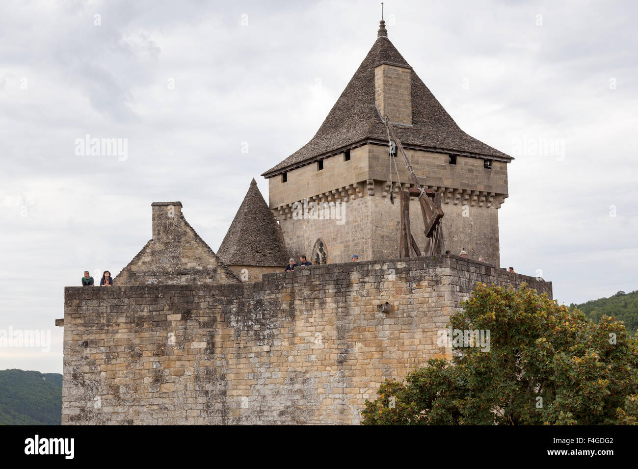
[(66, 287), (63, 424), (357, 424), (385, 378), (450, 357), (436, 331), (477, 281), (552, 293), (455, 256)]

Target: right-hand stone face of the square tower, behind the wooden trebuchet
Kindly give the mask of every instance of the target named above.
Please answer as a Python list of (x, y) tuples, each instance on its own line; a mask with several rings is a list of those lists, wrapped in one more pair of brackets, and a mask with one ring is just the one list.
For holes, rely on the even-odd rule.
[[(498, 207), (507, 195), (507, 163), (494, 161), (491, 170), (483, 167), (483, 160), (457, 156), (456, 165), (448, 163), (445, 154), (423, 151), (406, 151), (419, 176), (419, 182), (428, 188), (441, 191), (443, 209), (443, 235), (445, 249), (458, 255), (461, 250), (468, 257), (483, 257), (486, 262), (500, 266), (498, 237)], [(375, 145), (370, 148), (371, 177), (383, 177), (382, 167), (387, 162), (387, 149)], [(396, 157), (401, 182), (412, 183), (400, 156)], [(387, 175), (385, 175), (387, 178)], [(396, 175), (393, 176), (396, 180)], [(412, 184), (413, 185), (413, 184)], [(378, 193), (375, 190), (375, 193)], [(492, 195), (491, 195), (492, 194)], [(398, 198), (397, 198), (398, 199)], [(390, 205), (389, 198), (375, 201), (373, 219), (377, 229), (372, 240), (374, 258), (397, 255), (401, 214), (399, 200)], [(420, 248), (426, 246), (424, 224), (416, 198), (410, 202), (410, 227)]]

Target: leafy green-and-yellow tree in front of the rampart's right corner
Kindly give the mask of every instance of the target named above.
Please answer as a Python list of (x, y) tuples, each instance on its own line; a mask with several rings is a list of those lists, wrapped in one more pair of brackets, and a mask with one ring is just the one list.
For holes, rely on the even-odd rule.
[(386, 381), (363, 424), (636, 424), (638, 336), (623, 324), (595, 324), (526, 285), (479, 283), (462, 306), (452, 329), (489, 330), (489, 351), (455, 347), (451, 364)]

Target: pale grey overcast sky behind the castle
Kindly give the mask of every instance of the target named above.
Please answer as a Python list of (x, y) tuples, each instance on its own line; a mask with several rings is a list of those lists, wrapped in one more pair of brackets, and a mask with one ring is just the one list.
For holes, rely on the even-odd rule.
[[(251, 178), (267, 199), (260, 174), (315, 134), (379, 3), (1, 2), (0, 329), (52, 347), (0, 349), (0, 369), (61, 373), (64, 286), (128, 264), (151, 202), (181, 200), (217, 250)], [(516, 158), (503, 267), (567, 304), (636, 290), (635, 3), (388, 0), (385, 19), (459, 126)], [(87, 134), (128, 153), (78, 155)]]

